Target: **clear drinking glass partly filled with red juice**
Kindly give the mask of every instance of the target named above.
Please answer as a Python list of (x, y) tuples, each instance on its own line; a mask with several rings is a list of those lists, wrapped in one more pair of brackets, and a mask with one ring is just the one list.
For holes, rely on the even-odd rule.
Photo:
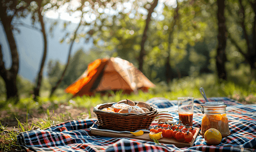
[(193, 126), (193, 110), (194, 110), (193, 97), (178, 98), (179, 120), (183, 125), (188, 124), (189, 126)]

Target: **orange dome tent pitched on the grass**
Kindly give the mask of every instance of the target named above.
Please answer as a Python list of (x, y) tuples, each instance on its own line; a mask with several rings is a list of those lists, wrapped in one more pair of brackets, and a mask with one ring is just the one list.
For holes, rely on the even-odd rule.
[(155, 85), (132, 63), (121, 58), (97, 59), (69, 87), (66, 93), (75, 96), (94, 95), (107, 90), (124, 90), (124, 93), (148, 91)]

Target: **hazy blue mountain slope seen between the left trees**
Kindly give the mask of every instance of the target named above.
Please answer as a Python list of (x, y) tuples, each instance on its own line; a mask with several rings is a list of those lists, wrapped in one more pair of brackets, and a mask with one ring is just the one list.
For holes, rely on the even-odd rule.
[[(21, 20), (26, 24), (31, 25), (32, 23), (30, 16)], [(63, 31), (63, 24), (65, 22), (64, 20), (54, 20), (49, 18), (45, 18), (44, 20), (47, 34), (47, 55), (44, 64), (43, 75), (46, 76), (47, 63), (50, 59), (60, 60), (62, 64), (66, 64), (70, 44), (67, 44), (66, 41), (61, 44), (60, 40), (66, 35), (67, 32), (72, 33), (76, 29), (77, 24), (71, 23), (67, 26), (66, 30)], [(52, 31), (52, 37), (49, 33), (49, 28), (51, 23), (55, 21), (58, 21), (58, 24)], [(39, 23), (35, 25), (37, 28), (41, 29)], [(43, 57), (43, 35), (40, 31), (33, 28), (19, 26), (18, 29), (20, 32), (14, 31), (15, 41), (19, 54), (18, 74), (31, 82), (35, 82)], [(11, 67), (12, 59), (3, 25), (0, 26), (0, 44), (2, 45), (3, 60), (5, 62), (6, 68), (8, 69)], [(89, 51), (92, 47), (92, 41), (89, 41), (89, 43), (84, 43), (84, 39), (80, 39), (78, 43), (73, 44), (71, 55), (73, 55), (75, 51), (80, 48), (84, 48), (86, 51)]]

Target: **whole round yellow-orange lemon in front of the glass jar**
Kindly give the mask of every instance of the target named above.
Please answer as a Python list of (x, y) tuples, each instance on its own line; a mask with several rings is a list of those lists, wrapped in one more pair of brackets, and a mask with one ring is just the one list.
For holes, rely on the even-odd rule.
[(208, 144), (219, 144), (221, 139), (221, 133), (217, 129), (210, 128), (205, 132), (205, 140)]

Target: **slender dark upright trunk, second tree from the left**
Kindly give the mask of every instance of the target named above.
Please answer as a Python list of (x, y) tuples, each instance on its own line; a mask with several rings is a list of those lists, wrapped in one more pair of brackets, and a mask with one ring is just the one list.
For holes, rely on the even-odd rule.
[(46, 37), (46, 32), (45, 32), (45, 27), (44, 27), (43, 16), (40, 11), (41, 9), (42, 9), (41, 3), (39, 3), (39, 9), (37, 10), (37, 12), (38, 12), (39, 21), (40, 21), (41, 28), (42, 28), (42, 34), (43, 34), (43, 40), (44, 40), (44, 53), (43, 53), (43, 58), (41, 61), (40, 70), (38, 72), (37, 86), (34, 88), (34, 95), (35, 95), (34, 100), (35, 101), (37, 101), (37, 97), (39, 96), (39, 91), (40, 91), (42, 78), (43, 78), (44, 62), (45, 62), (46, 53), (47, 53), (47, 37)]

